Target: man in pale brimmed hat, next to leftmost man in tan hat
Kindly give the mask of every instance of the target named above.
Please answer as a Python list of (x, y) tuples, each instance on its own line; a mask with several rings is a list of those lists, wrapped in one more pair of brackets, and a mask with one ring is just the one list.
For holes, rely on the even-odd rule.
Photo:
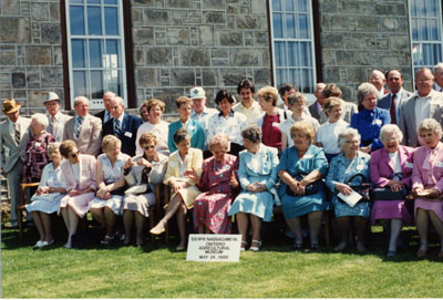
[(72, 118), (72, 116), (62, 114), (60, 112), (62, 102), (60, 101), (59, 95), (53, 92), (48, 94), (48, 97), (43, 104), (47, 107), (49, 120), (47, 132), (52, 134), (52, 136), (55, 138), (55, 142), (63, 142), (64, 125)]

